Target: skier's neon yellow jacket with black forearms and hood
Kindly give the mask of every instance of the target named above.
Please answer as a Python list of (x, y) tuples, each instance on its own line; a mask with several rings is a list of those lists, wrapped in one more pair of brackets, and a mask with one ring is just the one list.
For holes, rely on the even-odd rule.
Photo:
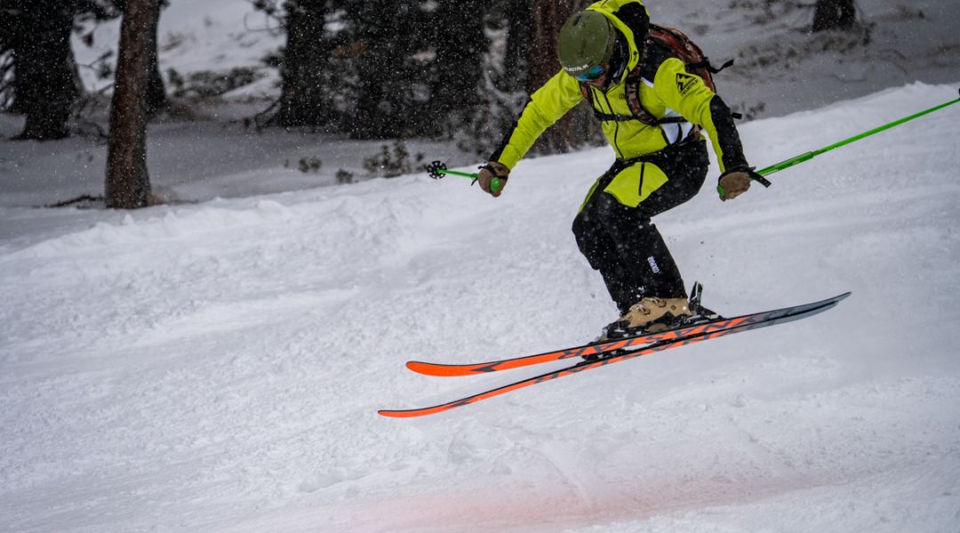
[[(639, 0), (608, 0), (588, 7), (606, 15), (627, 38), (630, 47), (630, 58), (623, 75), (618, 81), (612, 82), (606, 92), (587, 86), (593, 109), (600, 114), (631, 115), (626, 101), (625, 81), (641, 58), (633, 30), (617, 14), (626, 8), (636, 17), (637, 5), (646, 14), (646, 8)], [(604, 135), (617, 159), (633, 159), (663, 150), (669, 144), (683, 140), (692, 125), (697, 125), (707, 132), (721, 172), (728, 168), (746, 167), (739, 136), (726, 104), (700, 77), (687, 74), (683, 61), (669, 57), (659, 47), (650, 48), (654, 50), (648, 50), (643, 58), (640, 103), (657, 118), (680, 116), (688, 122), (648, 126), (638, 120), (604, 121)], [(493, 153), (491, 159), (512, 169), (547, 127), (560, 120), (582, 100), (584, 93), (580, 83), (561, 70), (531, 95), (516, 127), (508, 133), (503, 145)]]

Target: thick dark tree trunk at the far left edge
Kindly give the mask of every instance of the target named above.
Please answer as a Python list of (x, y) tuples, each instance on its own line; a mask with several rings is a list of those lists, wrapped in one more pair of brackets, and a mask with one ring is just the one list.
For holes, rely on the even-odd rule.
[(73, 13), (57, 0), (41, 0), (24, 6), (20, 16), (11, 38), (13, 108), (26, 115), (26, 123), (15, 139), (62, 139), (81, 94), (70, 48)]

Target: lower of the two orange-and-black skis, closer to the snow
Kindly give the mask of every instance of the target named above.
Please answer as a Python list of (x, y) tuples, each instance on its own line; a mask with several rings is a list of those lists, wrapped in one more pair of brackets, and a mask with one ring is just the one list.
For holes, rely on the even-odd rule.
[(706, 330), (700, 331), (698, 333), (691, 333), (687, 336), (675, 337), (673, 339), (668, 339), (664, 341), (655, 342), (649, 346), (638, 348), (633, 351), (619, 353), (607, 358), (593, 360), (593, 361), (583, 361), (572, 366), (567, 366), (565, 368), (547, 372), (545, 374), (540, 374), (540, 376), (535, 376), (533, 378), (527, 378), (519, 382), (510, 383), (501, 387), (497, 387), (485, 392), (474, 394), (466, 398), (461, 398), (460, 400), (455, 400), (446, 404), (441, 404), (439, 406), (430, 406), (430, 407), (421, 407), (415, 409), (401, 409), (401, 410), (391, 410), (391, 409), (382, 409), (377, 411), (380, 415), (391, 417), (391, 418), (413, 418), (418, 416), (425, 416), (429, 414), (435, 414), (439, 412), (448, 411), (456, 407), (468, 406), (470, 404), (475, 404), (482, 400), (487, 400), (494, 396), (499, 396), (501, 394), (506, 394), (508, 392), (515, 391), (520, 388), (528, 387), (541, 382), (548, 382), (551, 380), (556, 380), (558, 378), (563, 378), (564, 376), (570, 376), (573, 374), (578, 374), (587, 370), (594, 368), (599, 368), (601, 366), (606, 366), (614, 362), (619, 362), (627, 359), (634, 359), (640, 356), (646, 356), (654, 354), (656, 352), (661, 352), (664, 350), (669, 350), (672, 348), (679, 348), (681, 346), (686, 346), (688, 344), (694, 344), (697, 342), (702, 342), (710, 338), (716, 338), (719, 336), (727, 336), (735, 333), (746, 332), (750, 330), (755, 330), (758, 328), (765, 328), (768, 326), (773, 326), (776, 324), (782, 324), (786, 322), (792, 322), (794, 320), (800, 320), (815, 314), (824, 313), (829, 309), (835, 307), (843, 299), (850, 296), (850, 292), (834, 296), (827, 300), (821, 302), (816, 302), (812, 304), (806, 304), (802, 306), (796, 306), (791, 308), (785, 308), (777, 311), (770, 311), (765, 313), (754, 313), (746, 315), (742, 320), (738, 321), (735, 324), (728, 325), (725, 328), (718, 327), (714, 323), (713, 328), (708, 328)]

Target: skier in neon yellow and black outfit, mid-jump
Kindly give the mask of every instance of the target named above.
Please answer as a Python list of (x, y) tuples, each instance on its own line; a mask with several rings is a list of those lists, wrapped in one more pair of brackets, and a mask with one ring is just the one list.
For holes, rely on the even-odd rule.
[[(743, 155), (730, 108), (684, 61), (649, 40), (649, 27), (639, 0), (596, 2), (567, 19), (559, 38), (563, 69), (530, 96), (478, 174), (481, 188), (500, 196), (502, 190), (491, 190), (492, 178), (506, 183), (540, 134), (588, 99), (616, 155), (573, 221), (580, 251), (603, 276), (621, 314), (602, 339), (666, 330), (704, 313), (698, 295), (688, 299), (651, 221), (703, 185), (709, 164), (703, 131), (719, 162), (722, 200), (740, 196), (759, 177)], [(633, 92), (628, 77), (635, 79)]]

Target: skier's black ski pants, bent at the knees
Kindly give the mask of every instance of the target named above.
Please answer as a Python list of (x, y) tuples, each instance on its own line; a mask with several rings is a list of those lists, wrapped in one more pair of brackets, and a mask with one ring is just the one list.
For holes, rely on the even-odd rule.
[[(617, 174), (632, 165), (656, 165), (668, 178), (636, 207), (623, 205), (605, 191)], [(600, 176), (573, 220), (573, 235), (581, 253), (603, 276), (620, 313), (648, 296), (686, 297), (680, 269), (650, 219), (694, 197), (704, 184), (708, 166), (705, 141), (668, 147), (638, 159), (617, 160)]]

